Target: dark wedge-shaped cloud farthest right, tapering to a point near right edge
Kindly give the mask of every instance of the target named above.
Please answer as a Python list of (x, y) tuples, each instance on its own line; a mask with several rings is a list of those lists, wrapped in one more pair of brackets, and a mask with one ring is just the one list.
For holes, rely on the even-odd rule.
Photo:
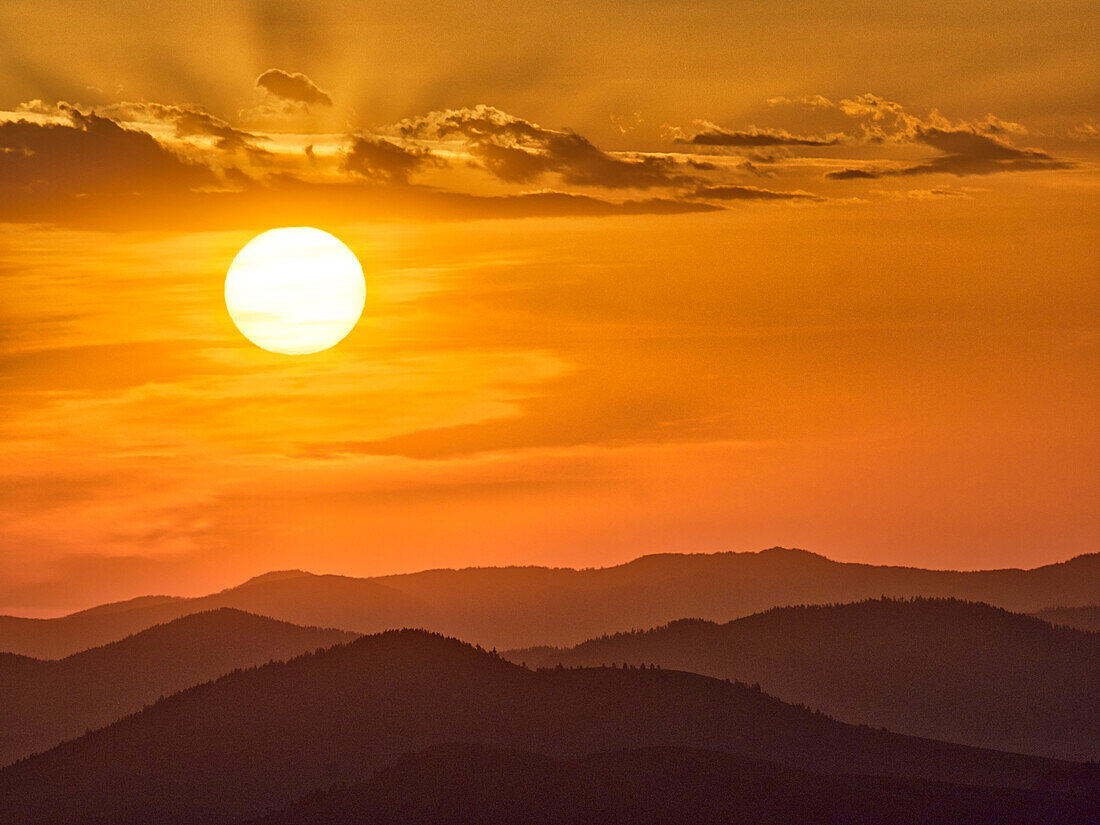
[(1000, 172), (1067, 169), (1072, 163), (1052, 157), (1037, 148), (1018, 148), (991, 134), (971, 128), (945, 129), (916, 125), (913, 140), (942, 154), (923, 163), (902, 167), (848, 168), (826, 173), (832, 180), (908, 177), (911, 175), (993, 175)]

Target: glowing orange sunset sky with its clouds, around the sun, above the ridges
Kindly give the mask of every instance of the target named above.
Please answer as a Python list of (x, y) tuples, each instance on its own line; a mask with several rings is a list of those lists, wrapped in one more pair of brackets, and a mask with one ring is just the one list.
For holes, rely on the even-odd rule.
[[(1100, 539), (1100, 7), (0, 4), (0, 613)], [(250, 343), (256, 233), (362, 263)]]

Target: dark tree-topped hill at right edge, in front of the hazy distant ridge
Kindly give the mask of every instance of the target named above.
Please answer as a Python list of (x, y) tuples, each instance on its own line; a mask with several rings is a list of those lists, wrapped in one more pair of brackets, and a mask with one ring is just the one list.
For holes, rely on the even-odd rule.
[(1063, 759), (1100, 758), (1100, 634), (956, 600), (780, 607), (685, 619), (574, 648), (552, 667), (656, 663), (759, 683), (846, 722)]

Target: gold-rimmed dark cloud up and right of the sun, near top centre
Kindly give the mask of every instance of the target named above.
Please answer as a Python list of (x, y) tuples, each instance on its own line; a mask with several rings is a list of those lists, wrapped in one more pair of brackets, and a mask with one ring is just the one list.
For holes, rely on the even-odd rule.
[(571, 186), (651, 189), (697, 182), (664, 155), (623, 157), (595, 146), (583, 135), (546, 129), (491, 106), (435, 111), (395, 127), (405, 138), (459, 139), (483, 168), (512, 184), (557, 174)]

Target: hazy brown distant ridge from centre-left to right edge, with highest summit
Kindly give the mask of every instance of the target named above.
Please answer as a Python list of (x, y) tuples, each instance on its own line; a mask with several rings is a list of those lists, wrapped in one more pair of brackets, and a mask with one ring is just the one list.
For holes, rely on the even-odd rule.
[[(831, 561), (803, 550), (645, 556), (594, 570), (484, 568), (377, 579), (433, 605), (431, 629), (498, 648), (576, 644), (684, 616), (726, 622), (769, 607), (878, 596), (967, 598), (1028, 612), (1100, 601), (1100, 553), (1035, 570), (945, 572)], [(1052, 601), (1053, 600), (1053, 601)], [(1034, 606), (1033, 606), (1034, 605)], [(516, 644), (515, 639), (531, 641)]]

